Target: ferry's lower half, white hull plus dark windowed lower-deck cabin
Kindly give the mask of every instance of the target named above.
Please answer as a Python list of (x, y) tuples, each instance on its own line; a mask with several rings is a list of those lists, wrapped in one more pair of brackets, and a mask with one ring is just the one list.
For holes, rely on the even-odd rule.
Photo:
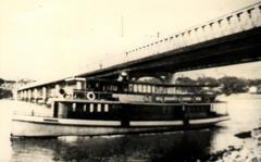
[(224, 108), (223, 102), (55, 100), (51, 108), (46, 104), (21, 103), (28, 109), (14, 111), (13, 136), (92, 136), (164, 132), (209, 127), (228, 120), (225, 111), (217, 111), (219, 108)]

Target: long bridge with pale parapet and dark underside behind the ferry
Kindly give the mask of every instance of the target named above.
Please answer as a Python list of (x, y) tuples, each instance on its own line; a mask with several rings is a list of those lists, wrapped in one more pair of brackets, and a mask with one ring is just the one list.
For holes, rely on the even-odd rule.
[[(124, 72), (130, 79), (165, 76), (170, 82), (176, 72), (260, 61), (260, 47), (261, 2), (128, 50), (122, 58), (103, 61), (73, 78), (116, 79)], [(42, 89), (42, 95), (66, 79), (72, 78), (38, 83), (18, 91), (30, 97)]]

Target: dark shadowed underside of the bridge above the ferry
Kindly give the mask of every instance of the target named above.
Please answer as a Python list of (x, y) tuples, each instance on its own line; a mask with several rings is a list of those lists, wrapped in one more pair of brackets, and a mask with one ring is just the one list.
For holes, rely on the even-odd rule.
[(260, 47), (261, 27), (257, 27), (77, 76), (116, 78), (126, 72), (130, 77), (159, 77), (175, 72), (254, 62), (261, 60)]

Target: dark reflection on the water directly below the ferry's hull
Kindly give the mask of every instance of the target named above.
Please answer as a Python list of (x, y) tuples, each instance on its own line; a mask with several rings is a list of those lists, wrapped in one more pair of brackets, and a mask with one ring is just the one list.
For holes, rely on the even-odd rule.
[(196, 161), (207, 159), (210, 129), (71, 139), (16, 139), (12, 161)]

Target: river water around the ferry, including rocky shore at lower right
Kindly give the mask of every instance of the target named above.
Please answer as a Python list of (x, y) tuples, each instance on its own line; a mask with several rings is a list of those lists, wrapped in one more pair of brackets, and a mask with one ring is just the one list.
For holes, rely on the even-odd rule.
[[(209, 129), (12, 140), (11, 114), (16, 104), (0, 100), (0, 162), (261, 161), (261, 96), (220, 99), (227, 101), (231, 120)], [(251, 135), (235, 136), (240, 133)]]

